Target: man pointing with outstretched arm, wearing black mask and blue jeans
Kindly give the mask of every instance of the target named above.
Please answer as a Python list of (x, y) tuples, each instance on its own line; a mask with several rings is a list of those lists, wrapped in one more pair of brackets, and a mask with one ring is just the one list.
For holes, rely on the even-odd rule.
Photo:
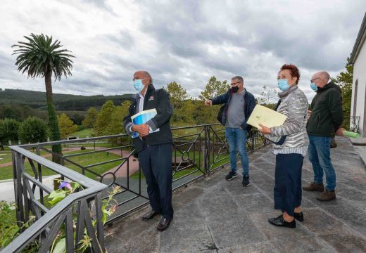
[(229, 144), (230, 165), (229, 174), (226, 180), (234, 179), (236, 174), (236, 146), (238, 147), (243, 167), (243, 186), (249, 186), (249, 159), (246, 152), (246, 133), (250, 131), (251, 126), (248, 121), (251, 112), (255, 107), (254, 96), (244, 89), (243, 77), (232, 77), (232, 88), (226, 93), (211, 98), (205, 102), (206, 105), (219, 105), (225, 103), (225, 109), (222, 113), (221, 124), (225, 126), (225, 137)]

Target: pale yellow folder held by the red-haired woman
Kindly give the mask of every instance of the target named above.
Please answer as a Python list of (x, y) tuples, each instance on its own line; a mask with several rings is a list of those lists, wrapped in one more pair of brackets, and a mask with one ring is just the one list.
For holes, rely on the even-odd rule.
[(248, 124), (260, 128), (259, 123), (268, 127), (281, 126), (286, 120), (286, 116), (276, 112), (263, 105), (255, 105), (251, 117), (248, 119)]

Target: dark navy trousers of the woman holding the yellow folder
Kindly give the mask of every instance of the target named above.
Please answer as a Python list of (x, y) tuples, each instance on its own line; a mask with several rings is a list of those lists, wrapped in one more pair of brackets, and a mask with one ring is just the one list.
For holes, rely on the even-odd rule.
[(274, 172), (274, 209), (294, 216), (295, 207), (301, 205), (301, 169), (304, 157), (300, 154), (276, 155)]

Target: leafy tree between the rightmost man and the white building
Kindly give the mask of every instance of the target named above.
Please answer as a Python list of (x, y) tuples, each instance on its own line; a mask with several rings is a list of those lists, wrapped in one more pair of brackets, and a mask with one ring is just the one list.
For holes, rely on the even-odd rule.
[(344, 120), (342, 126), (346, 129), (350, 126), (351, 116), (351, 100), (352, 100), (352, 82), (353, 82), (353, 65), (349, 63), (347, 58), (346, 71), (339, 73), (332, 81), (341, 87), (343, 100)]

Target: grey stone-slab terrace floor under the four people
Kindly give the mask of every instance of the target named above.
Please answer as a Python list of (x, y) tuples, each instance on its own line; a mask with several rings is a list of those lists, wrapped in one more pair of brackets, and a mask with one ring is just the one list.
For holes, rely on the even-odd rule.
[[(366, 171), (348, 138), (332, 149), (336, 200), (319, 202), (319, 193), (303, 192), (305, 221), (278, 228), (273, 209), (274, 155), (270, 146), (250, 155), (251, 186), (241, 177), (225, 181), (227, 169), (178, 190), (175, 217), (159, 233), (160, 216), (141, 221), (146, 208), (107, 228), (108, 252), (366, 252)], [(305, 157), (303, 185), (313, 179)]]

